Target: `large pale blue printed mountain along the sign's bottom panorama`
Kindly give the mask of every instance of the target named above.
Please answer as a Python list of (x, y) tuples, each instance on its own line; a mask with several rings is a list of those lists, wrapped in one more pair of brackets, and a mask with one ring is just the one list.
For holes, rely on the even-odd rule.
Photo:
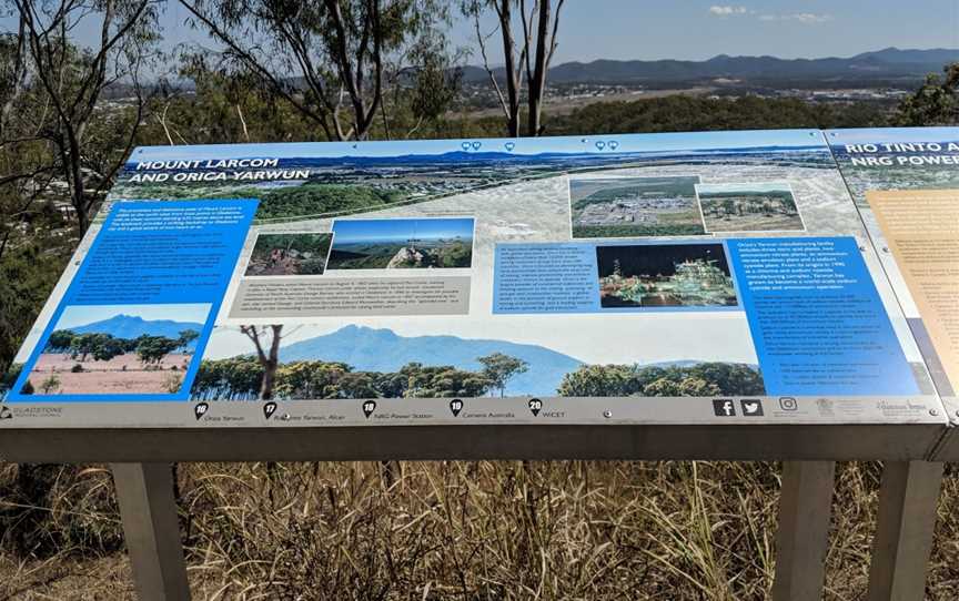
[(583, 361), (537, 345), (504, 340), (466, 339), (456, 336), (398, 336), (390, 329), (346, 326), (332, 334), (293, 343), (280, 349), (282, 363), (296, 360), (342, 361), (362, 371), (397, 371), (410, 363), (452, 365), (478, 371), (478, 357), (503, 353), (529, 364), (529, 369), (509, 380), (507, 395), (556, 394), (563, 376)]

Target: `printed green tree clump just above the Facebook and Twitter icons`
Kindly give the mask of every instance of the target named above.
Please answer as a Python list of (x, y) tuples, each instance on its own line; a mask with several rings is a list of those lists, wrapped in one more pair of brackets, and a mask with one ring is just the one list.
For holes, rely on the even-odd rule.
[(587, 365), (566, 374), (558, 391), (567, 397), (709, 397), (764, 395), (766, 386), (757, 369), (741, 364)]

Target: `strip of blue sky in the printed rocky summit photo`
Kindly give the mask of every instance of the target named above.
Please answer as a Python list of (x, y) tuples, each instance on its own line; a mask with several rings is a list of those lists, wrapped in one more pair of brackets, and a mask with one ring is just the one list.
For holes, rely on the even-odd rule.
[(435, 220), (337, 220), (333, 224), (333, 246), (357, 242), (386, 242), (410, 238), (436, 240), (473, 237), (472, 218)]

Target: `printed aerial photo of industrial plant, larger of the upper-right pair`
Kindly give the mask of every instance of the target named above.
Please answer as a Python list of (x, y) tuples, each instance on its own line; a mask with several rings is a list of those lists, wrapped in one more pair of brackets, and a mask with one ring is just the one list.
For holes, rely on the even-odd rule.
[(704, 234), (698, 175), (569, 177), (573, 237)]

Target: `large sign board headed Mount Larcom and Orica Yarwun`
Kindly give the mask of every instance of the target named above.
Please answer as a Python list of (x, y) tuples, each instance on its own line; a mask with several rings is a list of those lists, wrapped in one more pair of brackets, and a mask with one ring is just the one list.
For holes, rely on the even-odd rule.
[(656, 452), (918, 458), (945, 424), (817, 130), (141, 147), (17, 361), (4, 454), (322, 430), (365, 445), (342, 457), (472, 456), (548, 426), (489, 445), (572, 457), (590, 426), (616, 456), (695, 426)]

